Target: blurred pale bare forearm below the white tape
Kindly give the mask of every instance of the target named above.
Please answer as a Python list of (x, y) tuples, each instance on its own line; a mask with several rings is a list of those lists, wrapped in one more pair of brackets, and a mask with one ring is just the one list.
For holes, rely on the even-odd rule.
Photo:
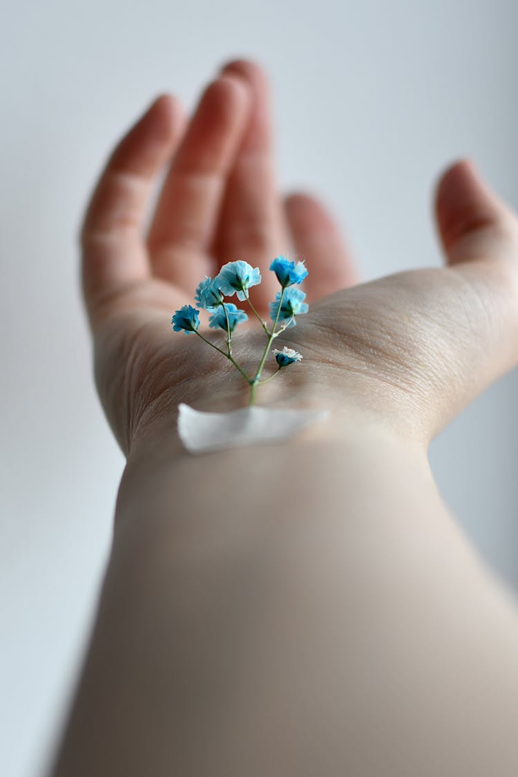
[(137, 444), (56, 777), (514, 774), (513, 608), (422, 451), (332, 428)]

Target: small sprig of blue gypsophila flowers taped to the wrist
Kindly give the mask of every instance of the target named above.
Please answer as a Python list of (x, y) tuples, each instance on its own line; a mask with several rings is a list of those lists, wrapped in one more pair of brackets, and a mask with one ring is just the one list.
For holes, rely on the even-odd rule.
[[(288, 260), (285, 256), (277, 256), (270, 264), (269, 269), (276, 275), (280, 283), (281, 291), (276, 294), (276, 298), (269, 304), (269, 315), (273, 321), (273, 326), (269, 328), (266, 321), (252, 305), (249, 298), (249, 289), (261, 283), (261, 274), (259, 267), (252, 267), (248, 262), (228, 262), (221, 267), (219, 273), (214, 277), (205, 277), (196, 288), (194, 298), (200, 308), (209, 312), (210, 329), (222, 329), (225, 333), (224, 347), (207, 340), (207, 337), (200, 332), (200, 310), (193, 308), (192, 305), (183, 305), (172, 316), (171, 323), (175, 332), (185, 332), (187, 335), (195, 333), (204, 343), (217, 350), (222, 356), (228, 359), (231, 364), (241, 373), (243, 378), (250, 386), (249, 405), (256, 401), (256, 388), (258, 385), (266, 383), (275, 377), (277, 372), (289, 364), (295, 364), (301, 361), (302, 355), (297, 350), (284, 346), (282, 350), (273, 350), (277, 362), (277, 370), (269, 378), (261, 379), (262, 369), (266, 364), (269, 350), (272, 347), (273, 340), (283, 333), (288, 326), (295, 326), (297, 315), (308, 312), (308, 305), (304, 302), (306, 295), (304, 291), (294, 288), (300, 284), (308, 275), (308, 270), (304, 267), (304, 262), (294, 262)], [(245, 370), (235, 360), (232, 354), (232, 336), (239, 324), (248, 321), (248, 315), (245, 311), (239, 310), (232, 302), (225, 302), (225, 297), (231, 297), (237, 294), (238, 300), (246, 301), (252, 309), (253, 315), (259, 319), (262, 329), (266, 333), (267, 342), (262, 354), (259, 366), (253, 375), (247, 375)]]

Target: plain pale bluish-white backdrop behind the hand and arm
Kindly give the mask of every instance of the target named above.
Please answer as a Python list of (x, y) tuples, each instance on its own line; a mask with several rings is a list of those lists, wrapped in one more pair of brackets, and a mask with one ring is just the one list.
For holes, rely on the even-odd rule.
[[(0, 29), (0, 774), (42, 777), (110, 547), (123, 456), (92, 382), (82, 210), (160, 92), (193, 106), (231, 57), (273, 82), (280, 182), (322, 195), (364, 280), (438, 265), (431, 201), (469, 156), (518, 207), (516, 0), (47, 0)], [(518, 591), (518, 373), (438, 438), (443, 496)], [(115, 775), (114, 775), (115, 777)]]

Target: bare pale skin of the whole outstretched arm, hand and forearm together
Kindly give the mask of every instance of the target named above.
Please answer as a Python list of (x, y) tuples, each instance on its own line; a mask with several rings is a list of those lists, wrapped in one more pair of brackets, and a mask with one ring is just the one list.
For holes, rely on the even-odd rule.
[[(96, 381), (127, 468), (52, 775), (514, 777), (516, 605), (426, 451), (518, 361), (516, 215), (457, 162), (436, 187), (446, 266), (360, 284), (322, 204), (280, 196), (270, 124), (249, 61), (223, 68), (190, 120), (161, 96), (85, 216)], [(173, 333), (172, 312), (245, 260), (262, 271), (266, 317), (267, 268), (290, 251), (306, 260), (310, 312), (278, 347), (304, 360), (257, 401), (325, 407), (332, 422), (193, 457), (178, 403), (233, 409), (248, 387)], [(234, 354), (252, 371), (263, 346), (251, 316)]]

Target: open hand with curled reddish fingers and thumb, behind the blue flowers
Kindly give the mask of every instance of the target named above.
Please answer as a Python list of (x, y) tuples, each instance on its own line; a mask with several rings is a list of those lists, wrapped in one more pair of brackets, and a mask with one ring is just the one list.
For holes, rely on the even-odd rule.
[[(282, 344), (304, 362), (261, 387), (259, 402), (346, 406), (428, 441), (515, 364), (518, 224), (468, 162), (447, 171), (437, 191), (448, 267), (353, 285), (349, 253), (323, 207), (276, 191), (256, 65), (224, 68), (185, 124), (176, 99), (153, 103), (111, 155), (82, 228), (96, 381), (123, 451), (179, 401), (245, 403), (243, 378), (194, 336), (173, 333), (171, 315), (193, 302), (204, 275), (243, 259), (262, 271), (253, 300), (266, 317), (278, 289), (267, 267), (291, 242), (306, 260), (313, 304)], [(151, 186), (168, 162), (144, 237)], [(235, 340), (249, 371), (264, 340), (253, 319)]]

